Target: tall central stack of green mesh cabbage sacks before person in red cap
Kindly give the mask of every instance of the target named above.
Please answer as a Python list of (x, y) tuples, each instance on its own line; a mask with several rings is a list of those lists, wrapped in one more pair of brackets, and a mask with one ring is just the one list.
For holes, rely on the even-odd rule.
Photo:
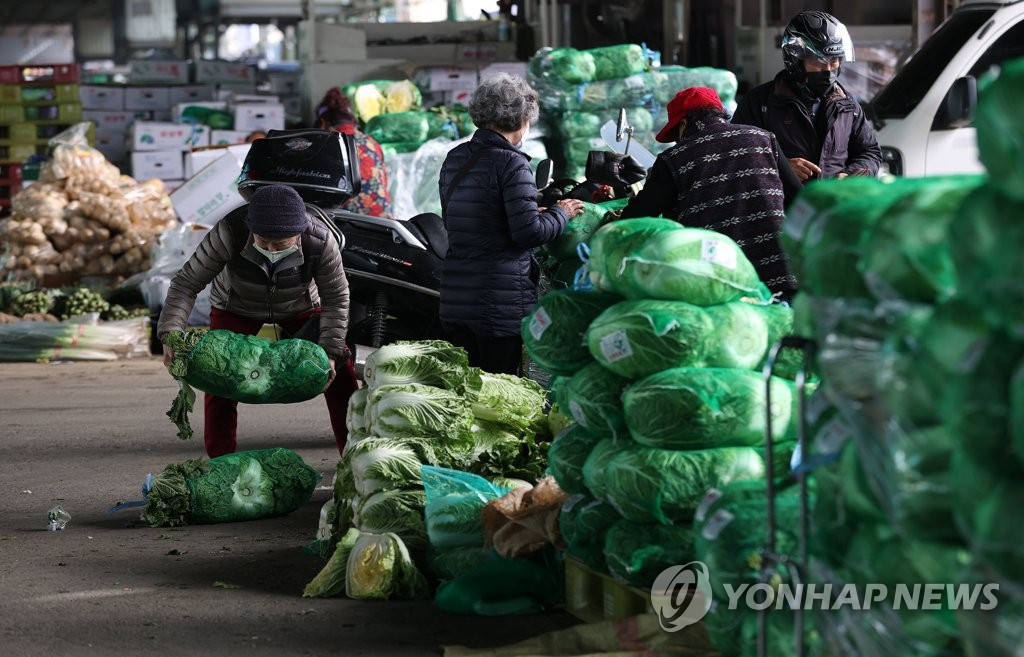
[[(792, 310), (770, 303), (721, 233), (640, 218), (605, 224), (589, 246), (593, 289), (552, 291), (523, 320), (530, 357), (557, 376), (557, 412), (571, 419), (549, 450), (551, 474), (575, 495), (561, 515), (567, 552), (638, 586), (696, 558), (715, 563), (719, 592), (715, 577), (756, 581), (751, 560), (765, 535), (762, 367), (790, 334)], [(779, 365), (778, 374), (795, 373), (792, 361)], [(773, 377), (780, 484), (790, 481), (796, 405), (793, 382)], [(718, 511), (702, 508), (712, 489), (729, 502), (739, 490), (744, 505), (732, 527), (719, 522), (722, 540), (694, 528)]]

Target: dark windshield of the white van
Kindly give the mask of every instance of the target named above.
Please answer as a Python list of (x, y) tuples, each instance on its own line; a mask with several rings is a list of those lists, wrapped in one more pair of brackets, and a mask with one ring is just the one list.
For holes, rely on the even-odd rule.
[(880, 119), (905, 119), (932, 88), (953, 55), (993, 13), (993, 9), (954, 11), (874, 96), (871, 105), (876, 116)]

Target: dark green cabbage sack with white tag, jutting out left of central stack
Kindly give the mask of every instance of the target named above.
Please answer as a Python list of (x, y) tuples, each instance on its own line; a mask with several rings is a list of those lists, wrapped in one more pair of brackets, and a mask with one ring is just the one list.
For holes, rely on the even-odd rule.
[(593, 362), (584, 339), (587, 326), (618, 299), (603, 292), (552, 290), (522, 319), (526, 353), (545, 371), (574, 375)]

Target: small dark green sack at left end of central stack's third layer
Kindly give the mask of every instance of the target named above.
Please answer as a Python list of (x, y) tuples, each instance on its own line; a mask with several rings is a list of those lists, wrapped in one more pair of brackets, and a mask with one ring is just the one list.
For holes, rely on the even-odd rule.
[(597, 438), (629, 436), (623, 415), (623, 390), (629, 380), (592, 362), (577, 371), (558, 390), (558, 405)]

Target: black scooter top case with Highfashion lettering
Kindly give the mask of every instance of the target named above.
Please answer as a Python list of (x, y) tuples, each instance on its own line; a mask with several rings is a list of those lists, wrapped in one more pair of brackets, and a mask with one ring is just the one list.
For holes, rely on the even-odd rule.
[(239, 194), (249, 201), (270, 184), (292, 187), (324, 210), (359, 193), (359, 167), (351, 135), (330, 130), (271, 130), (249, 146), (239, 175)]

